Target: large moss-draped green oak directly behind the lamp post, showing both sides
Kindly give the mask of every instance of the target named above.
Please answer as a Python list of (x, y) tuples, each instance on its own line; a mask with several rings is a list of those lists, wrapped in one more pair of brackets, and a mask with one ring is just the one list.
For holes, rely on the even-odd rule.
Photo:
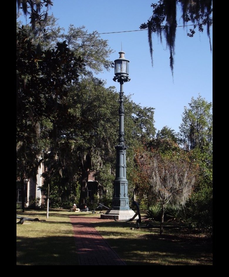
[[(112, 189), (115, 169), (114, 146), (118, 139), (119, 94), (114, 87), (105, 88), (100, 80), (84, 78), (69, 88), (67, 103), (68, 111), (74, 116), (75, 123), (68, 126), (67, 115), (64, 119), (65, 129), (60, 123), (57, 124), (58, 157), (53, 164), (52, 159), (48, 159), (49, 170), (43, 176), (45, 185), (55, 179), (61, 198), (74, 193), (74, 184), (77, 181), (80, 184), (79, 205), (83, 206), (87, 202), (90, 172), (95, 172), (95, 179), (101, 189)], [(154, 112), (152, 108), (141, 108), (129, 97), (125, 97), (125, 105), (128, 108), (125, 113), (128, 126), (125, 137), (130, 147), (128, 163), (131, 164), (132, 147), (139, 143), (142, 135), (154, 135)], [(50, 144), (51, 153), (52, 147), (54, 145)]]

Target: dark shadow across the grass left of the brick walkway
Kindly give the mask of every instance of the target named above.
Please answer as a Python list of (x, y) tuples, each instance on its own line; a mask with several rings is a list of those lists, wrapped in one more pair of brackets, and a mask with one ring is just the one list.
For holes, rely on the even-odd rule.
[(17, 265), (79, 265), (73, 237), (17, 237)]

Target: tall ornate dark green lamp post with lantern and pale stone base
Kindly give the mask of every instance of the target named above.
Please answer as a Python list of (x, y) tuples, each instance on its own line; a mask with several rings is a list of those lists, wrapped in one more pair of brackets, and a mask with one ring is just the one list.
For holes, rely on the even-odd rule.
[(129, 78), (129, 61), (124, 57), (125, 52), (119, 52), (119, 59), (114, 61), (114, 78), (113, 80), (120, 83), (119, 93), (119, 144), (116, 149), (116, 175), (114, 180), (114, 194), (112, 198), (112, 208), (101, 215), (101, 218), (117, 220), (130, 219), (135, 214), (129, 207), (128, 198), (128, 181), (126, 175), (126, 149), (128, 146), (124, 143), (124, 97), (123, 84), (130, 81)]

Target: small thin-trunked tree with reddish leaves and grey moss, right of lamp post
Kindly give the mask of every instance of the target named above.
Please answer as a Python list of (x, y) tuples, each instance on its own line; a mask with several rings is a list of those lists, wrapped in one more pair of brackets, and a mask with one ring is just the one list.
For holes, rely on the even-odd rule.
[(196, 168), (190, 163), (185, 152), (162, 156), (151, 151), (142, 153), (136, 159), (142, 176), (145, 176), (148, 194), (151, 193), (161, 205), (161, 235), (166, 205), (185, 205), (195, 182)]

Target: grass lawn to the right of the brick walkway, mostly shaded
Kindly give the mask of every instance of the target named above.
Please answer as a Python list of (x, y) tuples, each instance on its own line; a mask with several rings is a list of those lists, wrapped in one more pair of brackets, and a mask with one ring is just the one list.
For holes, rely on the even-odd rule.
[[(91, 223), (127, 265), (212, 265), (212, 240), (179, 231), (163, 235), (155, 230), (128, 230), (126, 222)], [(125, 232), (118, 228), (128, 227)], [(106, 231), (109, 228), (109, 231)]]

